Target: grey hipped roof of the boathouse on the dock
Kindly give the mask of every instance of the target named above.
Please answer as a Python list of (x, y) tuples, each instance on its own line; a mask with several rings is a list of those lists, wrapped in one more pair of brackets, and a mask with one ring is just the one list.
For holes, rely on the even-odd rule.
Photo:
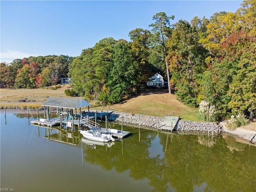
[(76, 109), (90, 106), (90, 104), (83, 99), (49, 97), (42, 106)]

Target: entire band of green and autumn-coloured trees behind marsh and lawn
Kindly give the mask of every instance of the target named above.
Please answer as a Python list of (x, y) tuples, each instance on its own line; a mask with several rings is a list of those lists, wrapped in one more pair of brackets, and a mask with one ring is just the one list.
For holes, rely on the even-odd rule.
[[(130, 41), (104, 38), (78, 57), (39, 56), (1, 64), (1, 87), (39, 88), (72, 78), (72, 94), (102, 104), (140, 92), (154, 73), (166, 77), (169, 93), (196, 107), (215, 105), (218, 116), (256, 108), (256, 1), (235, 13), (218, 12), (190, 22), (159, 12), (151, 30), (136, 28)], [(70, 93), (69, 93), (70, 94)]]

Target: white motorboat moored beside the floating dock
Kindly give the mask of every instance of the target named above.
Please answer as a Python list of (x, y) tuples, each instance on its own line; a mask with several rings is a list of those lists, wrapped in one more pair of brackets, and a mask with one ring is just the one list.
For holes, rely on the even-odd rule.
[(79, 132), (87, 139), (100, 141), (100, 142), (109, 142), (115, 141), (111, 134), (104, 134), (100, 132), (100, 127), (92, 127), (90, 130), (80, 130)]

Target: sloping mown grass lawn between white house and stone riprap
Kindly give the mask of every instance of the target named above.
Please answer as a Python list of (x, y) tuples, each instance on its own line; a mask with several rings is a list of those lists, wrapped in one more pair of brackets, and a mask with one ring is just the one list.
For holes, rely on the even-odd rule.
[[(133, 114), (164, 117), (165, 115), (180, 116), (182, 120), (199, 121), (198, 109), (190, 108), (177, 100), (176, 95), (166, 90), (145, 90), (122, 103), (114, 104), (114, 110)], [(112, 109), (113, 106), (110, 106)], [(106, 110), (106, 107), (93, 108)]]

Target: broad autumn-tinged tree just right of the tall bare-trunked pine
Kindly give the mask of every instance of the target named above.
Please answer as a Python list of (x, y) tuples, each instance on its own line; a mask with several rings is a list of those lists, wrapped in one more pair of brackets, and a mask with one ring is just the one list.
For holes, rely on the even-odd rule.
[(207, 51), (199, 43), (196, 27), (179, 20), (173, 25), (172, 36), (168, 39), (168, 62), (172, 81), (176, 85), (179, 100), (196, 106), (199, 80), (206, 68)]

